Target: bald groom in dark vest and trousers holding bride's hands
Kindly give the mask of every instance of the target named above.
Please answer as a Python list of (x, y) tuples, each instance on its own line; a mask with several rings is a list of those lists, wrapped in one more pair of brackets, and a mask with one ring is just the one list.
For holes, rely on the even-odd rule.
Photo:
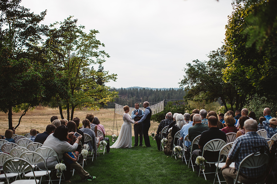
[(149, 136), (148, 136), (148, 131), (150, 128), (150, 118), (152, 115), (152, 111), (149, 108), (149, 102), (144, 102), (143, 103), (143, 107), (146, 108), (143, 114), (143, 118), (141, 118), (141, 120), (136, 121), (135, 124), (139, 125), (139, 124), (143, 124), (143, 138), (144, 138), (144, 143), (146, 145), (146, 147), (151, 147), (150, 145), (150, 140), (149, 140)]

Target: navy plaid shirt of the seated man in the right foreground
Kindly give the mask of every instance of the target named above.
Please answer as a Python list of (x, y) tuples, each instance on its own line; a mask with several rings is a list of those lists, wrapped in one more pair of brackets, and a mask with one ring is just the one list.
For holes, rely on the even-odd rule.
[[(255, 147), (255, 148), (254, 148)], [(247, 132), (243, 136), (239, 136), (235, 143), (233, 144), (232, 149), (229, 152), (229, 159), (235, 161), (235, 168), (239, 170), (239, 163), (249, 154), (255, 153), (260, 148), (266, 148), (265, 150), (268, 151), (268, 144), (267, 141), (257, 134), (257, 132)], [(266, 170), (266, 165), (258, 168), (245, 168), (242, 167), (240, 171), (251, 178), (255, 178), (260, 176)]]

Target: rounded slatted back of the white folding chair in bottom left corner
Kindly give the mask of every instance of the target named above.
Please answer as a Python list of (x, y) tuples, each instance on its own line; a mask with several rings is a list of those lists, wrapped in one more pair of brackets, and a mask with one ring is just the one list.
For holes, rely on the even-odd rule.
[[(22, 174), (22, 173), (31, 171), (34, 174), (34, 169), (32, 165), (28, 163), (26, 160), (20, 159), (20, 158), (7, 159), (6, 162), (3, 164), (3, 171), (7, 181), (8, 181), (8, 178), (7, 178), (6, 172)], [(36, 184), (37, 184), (35, 174), (34, 174), (34, 180), (36, 181)]]

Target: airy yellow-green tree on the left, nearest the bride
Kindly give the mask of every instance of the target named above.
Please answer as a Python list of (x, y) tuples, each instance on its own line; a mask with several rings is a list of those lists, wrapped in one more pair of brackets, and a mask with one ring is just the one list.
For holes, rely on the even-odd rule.
[(63, 85), (67, 89), (67, 94), (58, 94), (52, 101), (53, 106), (59, 106), (61, 117), (64, 118), (62, 109), (67, 110), (67, 119), (72, 120), (75, 108), (87, 106), (97, 109), (101, 103), (112, 101), (116, 92), (110, 92), (104, 84), (115, 81), (117, 75), (109, 75), (102, 68), (95, 71), (92, 67), (101, 65), (110, 57), (100, 50), (105, 45), (96, 39), (98, 31), (85, 33), (84, 26), (78, 27), (77, 19), (72, 17), (56, 22), (51, 27), (53, 29), (50, 29), (45, 43), (49, 51), (48, 59), (62, 73)]

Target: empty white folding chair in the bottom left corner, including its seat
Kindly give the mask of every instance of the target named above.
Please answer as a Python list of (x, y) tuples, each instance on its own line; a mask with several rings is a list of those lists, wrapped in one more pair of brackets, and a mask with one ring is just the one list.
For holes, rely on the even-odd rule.
[(3, 171), (6, 177), (6, 181), (8, 184), (10, 184), (7, 174), (6, 172), (10, 172), (10, 173), (16, 173), (19, 176), (20, 180), (16, 180), (14, 182), (12, 182), (13, 184), (38, 184), (39, 180), (36, 179), (36, 177), (34, 176), (34, 179), (27, 179), (27, 180), (22, 180), (20, 178), (20, 174), (31, 171), (34, 173), (34, 169), (31, 166), (30, 163), (28, 163), (26, 160), (24, 159), (20, 159), (20, 158), (11, 158), (11, 159), (7, 159), (5, 161), (5, 163), (3, 164)]

